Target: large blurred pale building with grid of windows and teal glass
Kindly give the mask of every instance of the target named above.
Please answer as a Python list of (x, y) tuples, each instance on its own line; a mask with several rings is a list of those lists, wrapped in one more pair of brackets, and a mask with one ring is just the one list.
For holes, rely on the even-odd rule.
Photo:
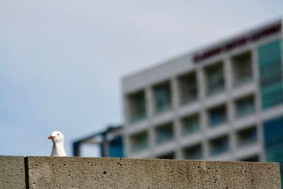
[(283, 164), (282, 50), (278, 20), (126, 76), (125, 156)]

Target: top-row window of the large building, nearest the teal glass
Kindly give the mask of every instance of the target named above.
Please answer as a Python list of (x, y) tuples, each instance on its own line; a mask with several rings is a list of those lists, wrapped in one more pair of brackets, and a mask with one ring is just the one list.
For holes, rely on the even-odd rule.
[(250, 52), (232, 58), (233, 85), (240, 86), (252, 81), (252, 60)]

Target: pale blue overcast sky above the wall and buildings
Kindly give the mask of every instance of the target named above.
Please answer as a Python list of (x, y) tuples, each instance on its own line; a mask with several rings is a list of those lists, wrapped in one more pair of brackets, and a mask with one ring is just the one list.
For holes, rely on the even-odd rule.
[[(283, 1), (0, 1), (0, 154), (123, 122), (121, 79), (283, 16)], [(96, 155), (94, 153), (93, 155)]]

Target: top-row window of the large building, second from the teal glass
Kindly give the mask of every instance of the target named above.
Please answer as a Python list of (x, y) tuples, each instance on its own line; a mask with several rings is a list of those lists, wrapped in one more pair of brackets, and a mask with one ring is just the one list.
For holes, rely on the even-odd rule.
[(213, 95), (224, 91), (225, 84), (222, 62), (207, 67), (205, 69), (205, 76), (207, 84), (207, 95)]

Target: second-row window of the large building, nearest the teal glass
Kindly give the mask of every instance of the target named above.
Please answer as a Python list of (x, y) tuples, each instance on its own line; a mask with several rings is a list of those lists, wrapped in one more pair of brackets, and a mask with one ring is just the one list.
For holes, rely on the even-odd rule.
[(255, 113), (254, 96), (248, 96), (236, 101), (236, 117), (240, 118)]

